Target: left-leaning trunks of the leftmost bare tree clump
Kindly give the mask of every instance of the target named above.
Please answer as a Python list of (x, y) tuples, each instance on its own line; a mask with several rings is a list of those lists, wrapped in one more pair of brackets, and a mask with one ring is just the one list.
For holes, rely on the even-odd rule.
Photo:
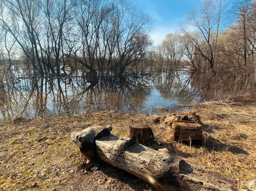
[(0, 19), (2, 27), (13, 36), (22, 51), (30, 58), (34, 71), (39, 71), (43, 75), (37, 41), (37, 30), (41, 21), (37, 1), (6, 0), (4, 6), (8, 11), (2, 14)]

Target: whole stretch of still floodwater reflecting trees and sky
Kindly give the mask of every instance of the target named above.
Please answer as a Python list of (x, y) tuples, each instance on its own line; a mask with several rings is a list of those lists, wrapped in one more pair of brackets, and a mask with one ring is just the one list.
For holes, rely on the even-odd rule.
[(59, 78), (29, 77), (31, 74), (28, 72), (16, 70), (12, 74), (1, 74), (1, 120), (15, 116), (53, 117), (110, 110), (159, 114), (189, 110), (209, 94), (225, 96), (226, 92), (234, 99), (236, 92), (252, 89), (246, 86), (247, 82), (230, 75), (220, 79), (218, 76), (189, 75), (181, 71), (126, 79), (101, 76), (97, 81), (88, 80), (79, 71), (75, 76)]

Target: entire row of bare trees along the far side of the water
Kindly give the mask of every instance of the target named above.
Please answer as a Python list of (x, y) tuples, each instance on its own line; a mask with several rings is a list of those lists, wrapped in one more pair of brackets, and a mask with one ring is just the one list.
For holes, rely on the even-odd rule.
[[(80, 65), (91, 74), (127, 68), (255, 74), (256, 2), (205, 0), (180, 30), (150, 50), (150, 19), (124, 0), (0, 0), (1, 62), (39, 75)], [(170, 21), (171, 22), (171, 21)]]

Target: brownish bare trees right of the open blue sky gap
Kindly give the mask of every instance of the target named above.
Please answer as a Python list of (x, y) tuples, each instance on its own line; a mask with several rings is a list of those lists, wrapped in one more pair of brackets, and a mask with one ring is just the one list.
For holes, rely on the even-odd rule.
[[(228, 26), (227, 26), (228, 25)], [(155, 60), (162, 67), (192, 71), (253, 73), (256, 66), (256, 1), (206, 0), (179, 31), (164, 38)]]

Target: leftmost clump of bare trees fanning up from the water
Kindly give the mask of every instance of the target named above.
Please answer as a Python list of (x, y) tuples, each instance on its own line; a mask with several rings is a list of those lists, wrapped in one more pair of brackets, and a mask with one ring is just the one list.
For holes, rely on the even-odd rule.
[[(60, 75), (64, 58), (65, 25), (74, 1), (7, 0), (0, 19), (2, 27), (19, 44), (35, 73)], [(56, 68), (56, 73), (55, 73)]]

